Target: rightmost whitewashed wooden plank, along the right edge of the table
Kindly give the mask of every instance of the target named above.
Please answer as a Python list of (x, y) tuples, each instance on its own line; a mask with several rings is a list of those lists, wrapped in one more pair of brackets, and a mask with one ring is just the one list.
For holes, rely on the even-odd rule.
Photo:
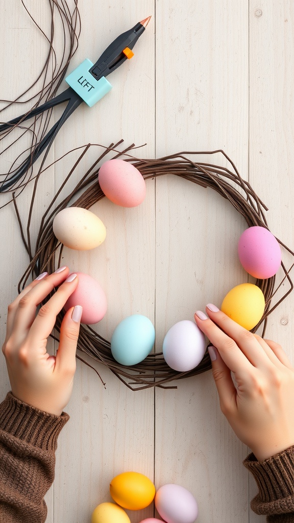
[[(250, 5), (250, 182), (270, 212), (270, 230), (287, 246), (293, 230), (293, 16), (292, 2)], [(287, 256), (285, 255), (285, 259)], [(289, 267), (288, 263), (288, 267)], [(289, 285), (285, 283), (285, 288)], [(269, 317), (267, 337), (279, 340), (291, 361), (294, 296)], [(251, 479), (250, 496), (256, 492)], [(258, 516), (252, 517), (254, 523)]]

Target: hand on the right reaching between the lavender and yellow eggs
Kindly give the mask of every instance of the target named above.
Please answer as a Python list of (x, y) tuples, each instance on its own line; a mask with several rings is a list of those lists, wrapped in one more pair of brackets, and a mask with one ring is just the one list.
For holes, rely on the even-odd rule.
[[(264, 460), (294, 445), (294, 369), (275, 342), (246, 331), (215, 305), (195, 321), (209, 347), (223, 414), (236, 436)], [(234, 379), (232, 378), (232, 374)]]

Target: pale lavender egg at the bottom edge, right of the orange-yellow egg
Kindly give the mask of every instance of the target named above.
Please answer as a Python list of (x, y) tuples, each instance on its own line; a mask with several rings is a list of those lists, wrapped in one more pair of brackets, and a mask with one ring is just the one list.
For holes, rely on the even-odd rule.
[(166, 523), (194, 523), (198, 516), (193, 494), (173, 483), (159, 488), (155, 495), (155, 507)]

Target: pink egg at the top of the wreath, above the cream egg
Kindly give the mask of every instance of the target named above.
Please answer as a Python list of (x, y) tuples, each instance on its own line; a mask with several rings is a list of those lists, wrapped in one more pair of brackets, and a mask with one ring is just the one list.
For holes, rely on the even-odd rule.
[(146, 195), (146, 184), (140, 171), (119, 158), (101, 165), (98, 182), (105, 196), (121, 207), (136, 207)]

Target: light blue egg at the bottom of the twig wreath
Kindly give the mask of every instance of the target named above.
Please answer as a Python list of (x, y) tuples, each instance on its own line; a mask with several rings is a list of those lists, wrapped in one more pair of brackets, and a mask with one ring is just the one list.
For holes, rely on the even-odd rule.
[(122, 320), (111, 337), (111, 354), (121, 365), (136, 365), (148, 356), (155, 341), (155, 329), (148, 317), (133, 314)]

